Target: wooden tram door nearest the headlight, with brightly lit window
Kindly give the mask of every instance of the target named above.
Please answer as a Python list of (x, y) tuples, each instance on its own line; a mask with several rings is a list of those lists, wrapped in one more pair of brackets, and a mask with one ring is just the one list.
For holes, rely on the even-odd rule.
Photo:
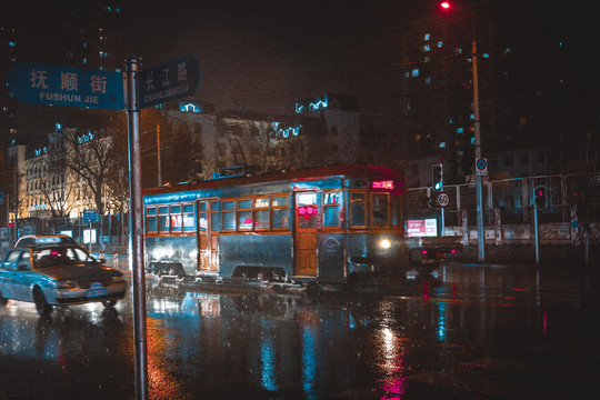
[(296, 274), (317, 276), (317, 230), (321, 227), (321, 193), (296, 192)]

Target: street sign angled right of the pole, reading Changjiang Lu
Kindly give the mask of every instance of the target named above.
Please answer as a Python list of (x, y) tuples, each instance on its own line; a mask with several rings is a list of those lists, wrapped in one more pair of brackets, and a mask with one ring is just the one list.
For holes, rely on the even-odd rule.
[(200, 63), (194, 56), (183, 56), (138, 74), (139, 108), (161, 104), (193, 94), (200, 84)]

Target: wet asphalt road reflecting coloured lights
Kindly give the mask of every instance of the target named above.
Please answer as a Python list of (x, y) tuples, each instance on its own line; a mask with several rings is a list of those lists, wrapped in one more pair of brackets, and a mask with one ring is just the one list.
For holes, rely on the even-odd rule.
[[(594, 268), (448, 264), (316, 296), (148, 279), (150, 399), (566, 398), (600, 372)], [(0, 308), (0, 399), (133, 399), (128, 298)]]

